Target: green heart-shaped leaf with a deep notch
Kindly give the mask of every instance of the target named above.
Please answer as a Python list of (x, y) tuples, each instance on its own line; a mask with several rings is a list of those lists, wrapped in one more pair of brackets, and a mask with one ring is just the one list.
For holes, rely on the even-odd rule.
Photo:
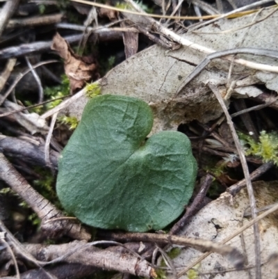
[(57, 192), (68, 212), (98, 228), (160, 230), (193, 193), (197, 164), (188, 138), (152, 129), (140, 99), (103, 95), (88, 102), (59, 161)]

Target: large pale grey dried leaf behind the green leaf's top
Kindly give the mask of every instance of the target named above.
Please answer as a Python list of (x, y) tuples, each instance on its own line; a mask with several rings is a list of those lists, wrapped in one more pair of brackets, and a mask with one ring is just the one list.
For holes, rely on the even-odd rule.
[[(256, 17), (256, 20), (265, 18), (272, 11), (271, 8), (263, 10)], [(229, 33), (212, 33), (245, 26), (250, 24), (253, 18), (254, 14), (236, 19), (226, 19), (221, 26), (212, 24), (198, 30), (206, 32), (206, 34), (186, 33), (183, 37), (216, 51), (238, 46), (278, 50), (278, 36), (273, 35), (273, 30), (278, 30), (278, 13), (274, 13), (262, 22), (249, 27), (248, 32), (247, 29), (240, 29)], [(218, 118), (222, 114), (222, 109), (207, 83), (213, 81), (224, 97), (227, 90), (225, 84), (230, 66), (229, 61), (223, 59), (212, 61), (206, 70), (203, 70), (199, 76), (188, 83), (186, 88), (183, 88), (176, 97), (177, 89), (183, 80), (205, 57), (206, 54), (190, 47), (181, 47), (175, 51), (167, 51), (158, 45), (150, 47), (108, 72), (106, 77), (100, 81), (102, 94), (128, 95), (145, 100), (152, 106), (155, 115), (152, 132), (177, 129), (181, 123), (192, 120), (208, 122)], [(278, 62), (273, 58), (241, 54), (237, 58), (278, 65)], [(244, 80), (245, 83), (239, 83), (239, 86), (234, 89), (237, 97), (259, 95), (262, 91), (254, 87), (258, 83), (265, 83), (266, 87), (278, 92), (277, 74), (264, 73), (242, 65), (235, 65), (231, 81), (239, 81), (243, 77), (248, 77)], [(67, 109), (67, 113), (81, 118), (86, 102), (88, 100), (81, 97), (78, 102), (74, 102)]]

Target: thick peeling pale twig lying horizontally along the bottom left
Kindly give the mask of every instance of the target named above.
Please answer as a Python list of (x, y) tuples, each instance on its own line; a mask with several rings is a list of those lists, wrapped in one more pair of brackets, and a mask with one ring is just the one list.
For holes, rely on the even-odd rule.
[[(1, 223), (1, 221), (0, 221)], [(11, 239), (14, 239), (13, 235)], [(71, 264), (85, 264), (96, 266), (101, 269), (115, 270), (124, 273), (131, 273), (136, 276), (150, 278), (155, 275), (154, 269), (149, 266), (146, 260), (142, 260), (140, 255), (135, 253), (129, 246), (117, 243), (115, 241), (93, 241), (85, 243), (84, 241), (73, 241), (68, 244), (49, 245), (27, 244), (23, 246), (15, 240), (15, 250), (23, 258), (39, 266), (47, 266), (67, 262)], [(121, 246), (124, 251), (113, 249), (99, 249), (93, 246), (99, 244), (113, 244)], [(126, 253), (128, 251), (129, 253)], [(1, 255), (2, 256), (2, 255)], [(44, 261), (37, 260), (43, 258)], [(124, 258), (124, 260), (123, 260)]]

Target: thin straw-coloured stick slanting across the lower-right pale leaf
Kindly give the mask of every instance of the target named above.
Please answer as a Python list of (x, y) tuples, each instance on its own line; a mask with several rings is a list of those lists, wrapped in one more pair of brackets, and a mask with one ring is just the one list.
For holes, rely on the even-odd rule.
[[(236, 237), (241, 232), (244, 232), (247, 228), (250, 228), (252, 225), (254, 225), (255, 223), (259, 222), (261, 219), (265, 218), (265, 216), (268, 216), (269, 214), (272, 214), (273, 212), (275, 212), (277, 210), (278, 210), (278, 204), (275, 205), (274, 207), (272, 207), (271, 209), (269, 209), (267, 212), (264, 212), (263, 214), (261, 214), (261, 215), (257, 216), (256, 218), (254, 218), (252, 221), (250, 221), (247, 224), (243, 225), (243, 227), (241, 227), (236, 232), (234, 232), (234, 234), (231, 234), (226, 239), (220, 241), (220, 244), (227, 243), (228, 241), (230, 241), (231, 239)], [(192, 269), (196, 264), (198, 264), (199, 262), (204, 260), (206, 257), (208, 257), (208, 255), (211, 255), (211, 252), (204, 253), (201, 257), (199, 257), (197, 260), (195, 260), (192, 264), (187, 266), (186, 269), (183, 269), (183, 271), (179, 272), (178, 273), (178, 278), (183, 276), (184, 274), (186, 274), (189, 269)]]

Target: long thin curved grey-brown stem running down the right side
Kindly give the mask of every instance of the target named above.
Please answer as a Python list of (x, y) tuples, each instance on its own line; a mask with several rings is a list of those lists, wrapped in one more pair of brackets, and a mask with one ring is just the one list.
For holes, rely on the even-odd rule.
[[(224, 104), (224, 100), (222, 99), (220, 93), (218, 92), (218, 88), (214, 86), (212, 83), (208, 83), (209, 88), (213, 91), (215, 97), (218, 99), (222, 110), (227, 118), (227, 124), (231, 130), (231, 134), (234, 138), (234, 143), (236, 145), (236, 149), (238, 150), (238, 156), (240, 158), (240, 162), (243, 168), (243, 173), (246, 180), (247, 192), (250, 200), (250, 207), (252, 212), (252, 218), (256, 218), (256, 200), (254, 198), (254, 191), (252, 187), (252, 182), (250, 179), (250, 173), (247, 166), (247, 161), (243, 152), (243, 148), (240, 145), (238, 135), (236, 134), (236, 129), (234, 128), (234, 124), (231, 121), (231, 116), (229, 115), (229, 111)], [(260, 245), (260, 234), (259, 234), (259, 225), (254, 224), (254, 239), (255, 239), (255, 257), (256, 257), (256, 279), (261, 278), (261, 245)]]

